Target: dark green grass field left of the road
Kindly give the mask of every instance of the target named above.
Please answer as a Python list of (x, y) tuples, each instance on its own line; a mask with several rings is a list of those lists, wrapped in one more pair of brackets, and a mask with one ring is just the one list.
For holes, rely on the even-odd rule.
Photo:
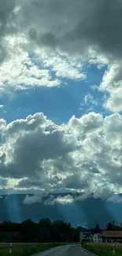
[[(57, 247), (62, 243), (13, 243), (13, 256), (30, 256), (52, 247)], [(0, 256), (9, 256), (9, 243), (0, 243)]]

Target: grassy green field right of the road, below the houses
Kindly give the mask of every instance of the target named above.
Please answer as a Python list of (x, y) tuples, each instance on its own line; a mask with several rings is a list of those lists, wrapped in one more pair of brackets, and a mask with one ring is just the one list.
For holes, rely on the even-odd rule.
[[(90, 250), (94, 254), (100, 256), (110, 256), (113, 255), (113, 243), (83, 243), (83, 248)], [(122, 244), (115, 243), (115, 256), (122, 255)]]

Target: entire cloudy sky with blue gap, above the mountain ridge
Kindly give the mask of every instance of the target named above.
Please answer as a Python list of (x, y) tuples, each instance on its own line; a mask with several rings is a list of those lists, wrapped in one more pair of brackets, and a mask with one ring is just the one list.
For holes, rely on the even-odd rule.
[(122, 0), (0, 1), (1, 195), (122, 192), (121, 17)]

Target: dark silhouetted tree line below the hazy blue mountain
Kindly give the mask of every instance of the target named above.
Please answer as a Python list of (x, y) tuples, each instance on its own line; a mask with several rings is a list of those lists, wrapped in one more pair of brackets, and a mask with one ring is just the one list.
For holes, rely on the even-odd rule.
[[(106, 230), (122, 230), (122, 224), (116, 225), (109, 222)], [(14, 243), (77, 243), (79, 242), (79, 232), (89, 231), (92, 234), (102, 232), (99, 224), (94, 228), (85, 229), (82, 226), (73, 228), (72, 225), (64, 221), (50, 221), (49, 218), (42, 218), (39, 223), (27, 219), (21, 223), (3, 221), (0, 223), (0, 242)], [(5, 236), (6, 234), (6, 236)], [(9, 236), (11, 234), (11, 236)]]

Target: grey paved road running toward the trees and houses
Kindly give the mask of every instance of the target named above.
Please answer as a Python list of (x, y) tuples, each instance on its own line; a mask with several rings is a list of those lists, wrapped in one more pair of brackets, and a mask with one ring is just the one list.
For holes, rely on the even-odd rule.
[[(80, 245), (65, 245), (61, 247), (51, 248), (50, 250), (43, 251), (35, 256), (96, 256), (83, 249)], [(33, 256), (34, 256), (33, 255)]]

